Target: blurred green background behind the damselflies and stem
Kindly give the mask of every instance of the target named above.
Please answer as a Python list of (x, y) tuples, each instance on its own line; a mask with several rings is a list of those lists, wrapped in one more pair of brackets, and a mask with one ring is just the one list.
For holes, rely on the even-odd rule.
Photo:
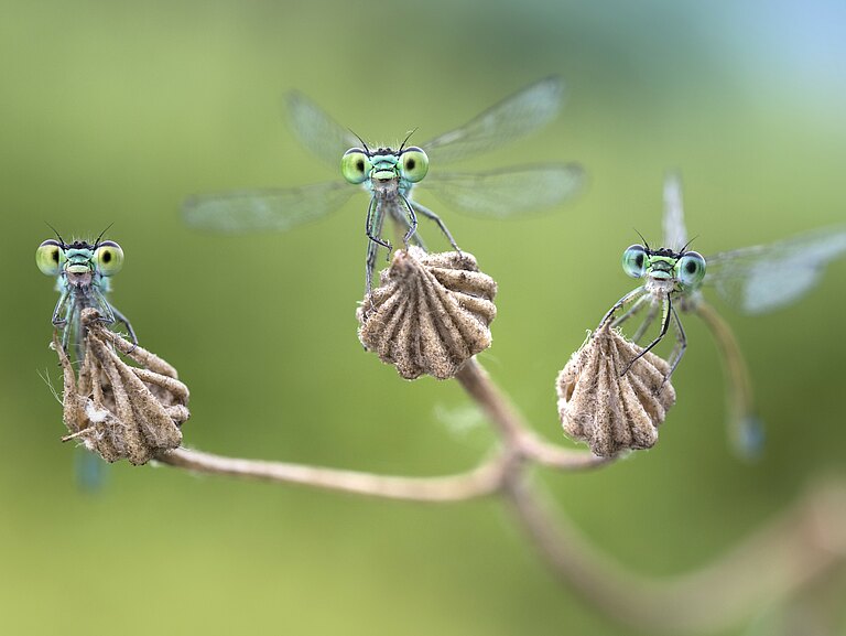
[[(660, 237), (665, 170), (714, 252), (843, 222), (846, 9), (831, 2), (143, 3), (2, 1), (0, 21), (0, 633), (630, 634), (553, 581), (496, 500), (349, 496), (112, 466), (97, 494), (58, 442), (47, 349), (51, 236), (127, 256), (115, 303), (192, 389), (186, 443), (236, 456), (434, 475), (492, 442), (460, 389), (402, 381), (361, 351), (364, 201), (286, 235), (183, 227), (195, 192), (339, 179), (297, 147), (296, 88), (366, 139), (419, 140), (549, 74), (568, 86), (541, 134), (462, 168), (577, 160), (576, 202), (511, 223), (440, 211), (499, 282), (481, 356), (551, 439), (553, 380), (632, 287), (633, 228)], [(436, 166), (433, 166), (433, 171)], [(430, 229), (430, 235), (432, 235)], [(539, 475), (578, 526), (649, 574), (707, 562), (843, 476), (846, 262), (758, 319), (716, 301), (749, 358), (768, 442), (727, 449), (704, 325), (659, 444), (597, 473)], [(744, 629), (733, 632), (746, 633)]]

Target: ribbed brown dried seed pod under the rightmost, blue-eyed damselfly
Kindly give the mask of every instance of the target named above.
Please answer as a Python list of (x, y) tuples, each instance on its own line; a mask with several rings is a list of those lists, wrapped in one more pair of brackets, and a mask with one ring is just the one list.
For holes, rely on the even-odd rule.
[(675, 389), (664, 381), (670, 365), (657, 355), (647, 353), (620, 375), (642, 351), (606, 322), (558, 374), (564, 432), (596, 455), (653, 446), (658, 425), (675, 403)]

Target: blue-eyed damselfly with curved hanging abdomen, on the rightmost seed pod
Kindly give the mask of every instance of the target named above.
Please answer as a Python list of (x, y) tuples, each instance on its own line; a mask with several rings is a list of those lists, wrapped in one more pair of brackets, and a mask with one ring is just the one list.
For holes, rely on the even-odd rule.
[[(681, 183), (677, 176), (671, 175), (664, 184), (663, 228), (664, 244), (660, 249), (651, 248), (644, 240), (643, 245), (632, 245), (622, 254), (626, 273), (643, 279), (644, 283), (622, 297), (600, 324), (610, 320), (616, 326), (647, 309), (646, 319), (632, 335), (637, 343), (643, 339), (660, 314), (660, 331), (644, 353), (671, 330), (675, 333), (675, 346), (669, 357), (669, 378), (687, 346), (679, 311), (698, 314), (714, 334), (728, 373), (733, 441), (745, 454), (752, 453), (761, 443), (762, 431), (753, 410), (746, 363), (728, 325), (703, 299), (702, 288), (714, 285), (726, 301), (749, 314), (795, 302), (816, 284), (829, 261), (846, 254), (846, 226), (704, 258), (687, 249), (690, 241), (684, 225)], [(617, 315), (626, 305), (630, 306)]]

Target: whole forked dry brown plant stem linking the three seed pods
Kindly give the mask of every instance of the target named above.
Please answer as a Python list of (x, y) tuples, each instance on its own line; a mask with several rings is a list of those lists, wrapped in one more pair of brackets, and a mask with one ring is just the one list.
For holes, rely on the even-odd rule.
[(477, 468), (446, 477), (394, 477), (223, 457), (175, 449), (159, 461), (198, 473), (293, 483), (410, 502), (459, 502), (501, 493), (521, 529), (575, 593), (619, 623), (649, 634), (708, 634), (734, 626), (846, 562), (846, 487), (817, 488), (717, 561), (668, 579), (638, 575), (589, 545), (528, 482), (532, 464), (565, 471), (612, 459), (541, 440), (475, 360), (456, 379), (494, 424), (502, 450)]

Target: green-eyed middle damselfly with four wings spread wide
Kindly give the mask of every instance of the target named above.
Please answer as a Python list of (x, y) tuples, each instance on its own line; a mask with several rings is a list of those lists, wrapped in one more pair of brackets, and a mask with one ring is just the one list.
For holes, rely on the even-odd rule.
[[(491, 150), (523, 137), (550, 122), (561, 108), (564, 87), (551, 77), (506, 98), (464, 126), (427, 143), (409, 145), (409, 137), (397, 147), (371, 148), (336, 123), (305, 96), (289, 96), (292, 128), (299, 140), (321, 159), (340, 162), (347, 183), (329, 182), (286, 190), (246, 190), (194, 196), (183, 211), (188, 224), (224, 233), (286, 230), (322, 217), (339, 207), (359, 185), (370, 197), (367, 208), (366, 280), (370, 290), (379, 246), (391, 242), (382, 236), (386, 217), (402, 233), (403, 244), (423, 247), (416, 233), (417, 218), (433, 220), (454, 249), (458, 249), (443, 220), (412, 198), (412, 191), (432, 166), (446, 164)], [(582, 182), (574, 163), (536, 164), (482, 173), (433, 174), (432, 191), (447, 205), (488, 217), (510, 217), (550, 207), (573, 196)]]

